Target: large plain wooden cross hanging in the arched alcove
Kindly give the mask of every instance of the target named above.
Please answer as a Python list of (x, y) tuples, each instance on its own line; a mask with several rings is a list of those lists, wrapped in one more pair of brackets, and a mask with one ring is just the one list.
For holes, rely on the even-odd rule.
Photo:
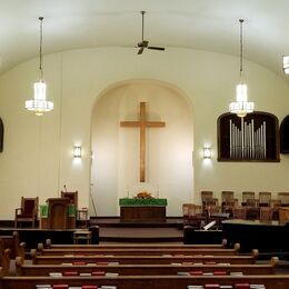
[(120, 127), (123, 128), (140, 128), (140, 182), (146, 181), (146, 128), (163, 128), (163, 121), (147, 121), (146, 120), (146, 102), (140, 102), (139, 121), (121, 121)]

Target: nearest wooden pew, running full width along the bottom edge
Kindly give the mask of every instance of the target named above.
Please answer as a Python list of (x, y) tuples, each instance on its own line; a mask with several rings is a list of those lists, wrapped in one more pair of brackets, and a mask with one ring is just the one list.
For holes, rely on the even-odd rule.
[(0, 271), (0, 288), (31, 289), (37, 285), (117, 286), (117, 289), (187, 289), (191, 285), (265, 285), (266, 289), (288, 289), (289, 275), (248, 276), (118, 276), (118, 277), (6, 277)]

